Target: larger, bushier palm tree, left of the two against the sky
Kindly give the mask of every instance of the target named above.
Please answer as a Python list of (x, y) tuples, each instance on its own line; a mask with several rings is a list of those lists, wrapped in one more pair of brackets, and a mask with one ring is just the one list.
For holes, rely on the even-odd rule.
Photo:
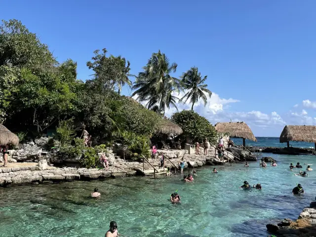
[(148, 101), (148, 109), (157, 105), (158, 112), (163, 114), (170, 105), (177, 108), (178, 98), (173, 96), (172, 92), (181, 90), (180, 80), (170, 76), (172, 72), (176, 72), (177, 66), (176, 63), (170, 65), (169, 59), (160, 50), (153, 53), (147, 65), (143, 67), (144, 71), (136, 78), (132, 96), (137, 95), (139, 101)]

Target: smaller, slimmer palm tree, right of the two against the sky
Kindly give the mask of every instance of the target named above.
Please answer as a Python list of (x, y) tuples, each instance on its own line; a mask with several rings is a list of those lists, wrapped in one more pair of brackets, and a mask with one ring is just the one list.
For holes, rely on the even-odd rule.
[(184, 89), (188, 89), (189, 91), (180, 99), (180, 102), (184, 101), (184, 103), (186, 103), (187, 100), (190, 99), (190, 103), (192, 103), (191, 111), (193, 111), (193, 106), (199, 99), (202, 99), (204, 106), (206, 106), (207, 97), (205, 93), (208, 94), (209, 97), (212, 95), (212, 92), (206, 88), (207, 84), (203, 84), (206, 79), (207, 76), (204, 76), (202, 79), (197, 67), (192, 67), (181, 76), (181, 85)]

